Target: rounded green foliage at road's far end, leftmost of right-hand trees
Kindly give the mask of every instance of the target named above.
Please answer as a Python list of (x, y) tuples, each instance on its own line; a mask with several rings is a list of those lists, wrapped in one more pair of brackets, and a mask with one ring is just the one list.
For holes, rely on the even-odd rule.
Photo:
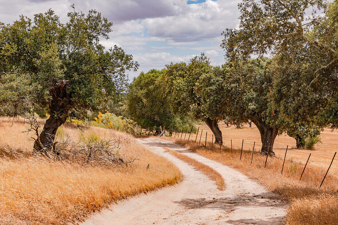
[(166, 70), (141, 73), (130, 84), (127, 108), (130, 117), (141, 127), (178, 128), (192, 124), (189, 115), (177, 116), (166, 87)]

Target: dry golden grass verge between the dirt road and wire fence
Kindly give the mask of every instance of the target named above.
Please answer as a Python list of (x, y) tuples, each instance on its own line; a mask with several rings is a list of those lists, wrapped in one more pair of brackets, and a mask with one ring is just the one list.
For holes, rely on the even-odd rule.
[(337, 224), (337, 203), (332, 204), (338, 200), (338, 179), (334, 173), (329, 173), (319, 188), (326, 171), (315, 165), (308, 165), (299, 180), (304, 164), (292, 159), (286, 160), (281, 174), (282, 158), (268, 157), (264, 168), (266, 156), (257, 152), (251, 164), (252, 151), (243, 151), (240, 160), (240, 149), (233, 149), (231, 153), (231, 149), (225, 147), (220, 151), (219, 145), (213, 144), (212, 148), (210, 142), (207, 142), (207, 148), (198, 148), (198, 143), (194, 141), (176, 139), (175, 142), (197, 154), (231, 166), (284, 196), (290, 201), (288, 225)]

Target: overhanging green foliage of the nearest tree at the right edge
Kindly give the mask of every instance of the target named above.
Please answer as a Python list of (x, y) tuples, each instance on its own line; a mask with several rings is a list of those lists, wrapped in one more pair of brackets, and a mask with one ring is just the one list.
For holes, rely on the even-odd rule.
[(223, 32), (231, 60), (270, 54), (269, 96), (282, 124), (338, 123), (338, 1), (243, 0), (239, 29)]

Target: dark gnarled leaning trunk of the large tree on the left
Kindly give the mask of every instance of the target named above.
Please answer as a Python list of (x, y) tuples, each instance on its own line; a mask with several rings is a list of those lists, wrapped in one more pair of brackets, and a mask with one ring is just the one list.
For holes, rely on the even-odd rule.
[(43, 146), (40, 146), (40, 144), (35, 141), (34, 152), (51, 150), (57, 128), (66, 122), (70, 106), (69, 93), (67, 92), (67, 89), (69, 89), (68, 83), (68, 80), (58, 80), (54, 87), (49, 90), (49, 93), (52, 96), (49, 103), (50, 117), (46, 120), (39, 136)]

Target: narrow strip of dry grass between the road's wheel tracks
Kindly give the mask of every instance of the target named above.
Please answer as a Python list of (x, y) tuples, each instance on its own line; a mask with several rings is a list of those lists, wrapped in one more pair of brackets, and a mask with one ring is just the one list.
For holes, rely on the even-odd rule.
[(195, 167), (197, 170), (203, 172), (205, 175), (207, 175), (210, 179), (216, 181), (217, 188), (219, 190), (224, 190), (225, 185), (224, 185), (224, 179), (222, 176), (213, 168), (200, 163), (199, 161), (190, 158), (184, 154), (178, 153), (176, 151), (170, 150), (166, 147), (163, 147), (164, 149), (168, 150), (168, 152), (174, 156), (176, 156), (179, 159), (182, 159), (183, 161), (187, 162), (188, 164), (192, 165)]

